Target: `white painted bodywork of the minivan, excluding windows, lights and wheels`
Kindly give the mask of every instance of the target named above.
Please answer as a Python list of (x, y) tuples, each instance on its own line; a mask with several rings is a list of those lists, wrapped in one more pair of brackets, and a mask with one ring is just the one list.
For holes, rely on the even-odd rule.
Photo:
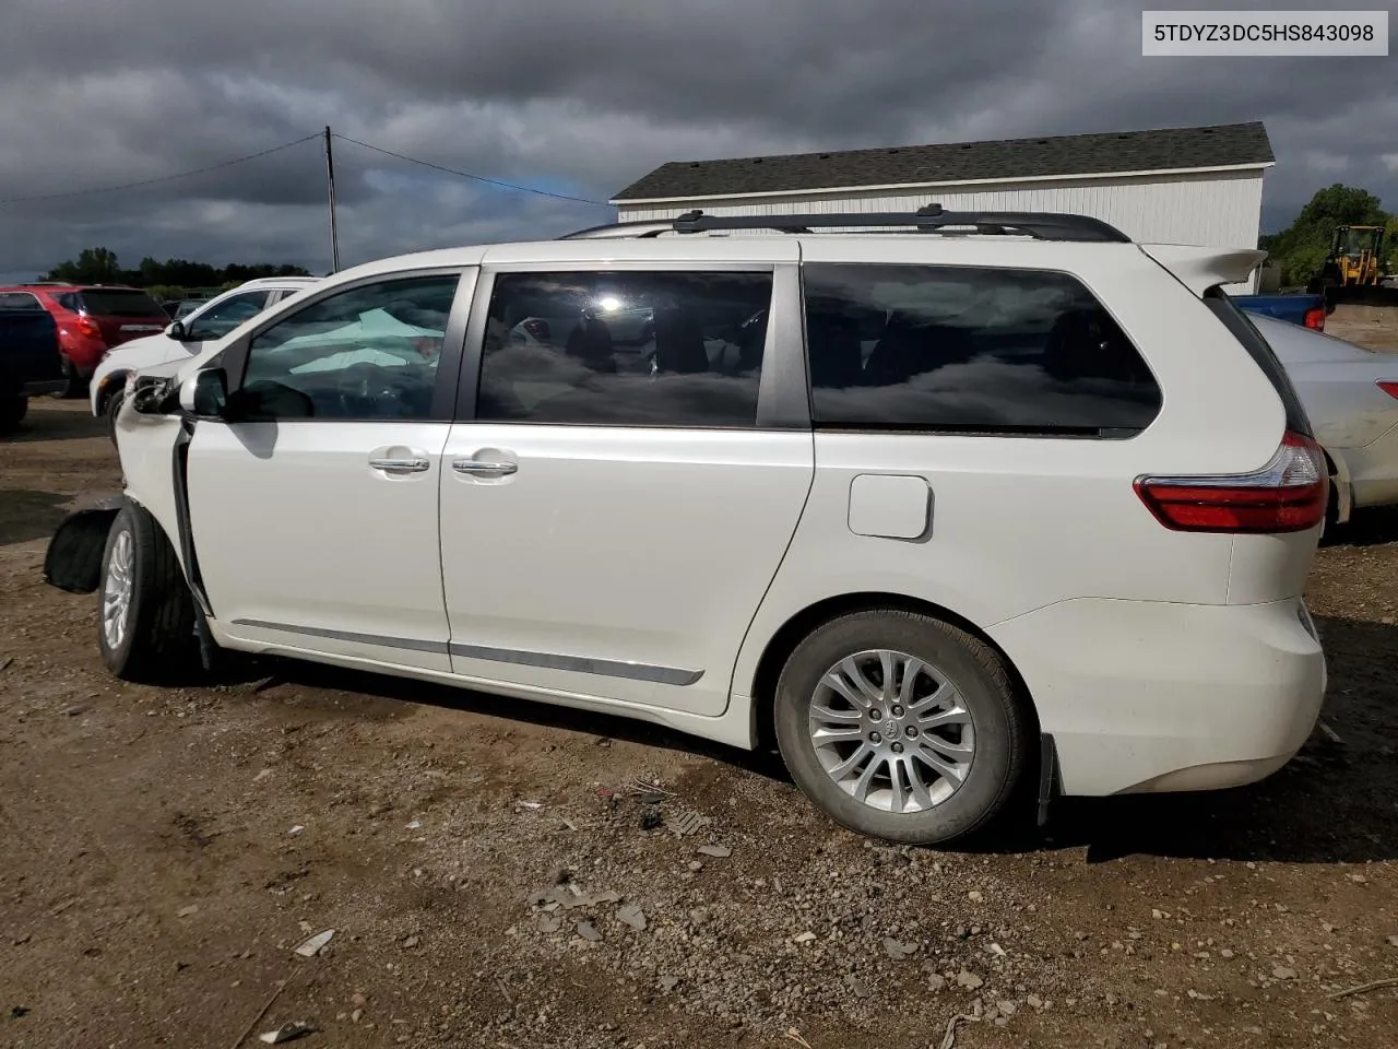
[[(1195, 273), (1239, 264), (1229, 246), (1184, 255)], [(1324, 690), (1324, 656), (1300, 606), (1318, 529), (1246, 541), (1172, 531), (1135, 495), (1142, 474), (1255, 470), (1285, 427), (1276, 392), (1243, 347), (1135, 243), (916, 235), (541, 242), (383, 260), (327, 278), (322, 291), (369, 274), (482, 262), (774, 267), (797, 257), (1075, 274), (1156, 375), (1160, 414), (1128, 441), (201, 421), (190, 499), (217, 639), (611, 711), (751, 747), (754, 704), (770, 701), (758, 695), (756, 670), (777, 632), (818, 601), (888, 593), (946, 608), (1001, 646), (1058, 740), (1071, 792), (1223, 786), (1285, 762)], [(797, 284), (776, 287), (765, 380), (784, 375), (773, 382), (798, 382), (804, 393)], [(473, 304), (473, 330), (484, 326), (485, 305)], [(182, 371), (221, 348), (207, 347)], [(161, 506), (171, 530), (178, 425), (123, 413), (117, 429), (129, 491)], [(384, 450), (421, 455), (432, 469), (384, 476), (368, 466)], [(447, 473), (454, 459), (482, 452), (519, 469), (484, 481)], [(850, 530), (851, 485), (868, 474), (917, 478), (935, 494), (925, 541)], [(243, 629), (233, 618), (407, 638), (433, 650)], [(457, 659), (447, 657), (447, 641), (703, 676), (670, 685)]]

